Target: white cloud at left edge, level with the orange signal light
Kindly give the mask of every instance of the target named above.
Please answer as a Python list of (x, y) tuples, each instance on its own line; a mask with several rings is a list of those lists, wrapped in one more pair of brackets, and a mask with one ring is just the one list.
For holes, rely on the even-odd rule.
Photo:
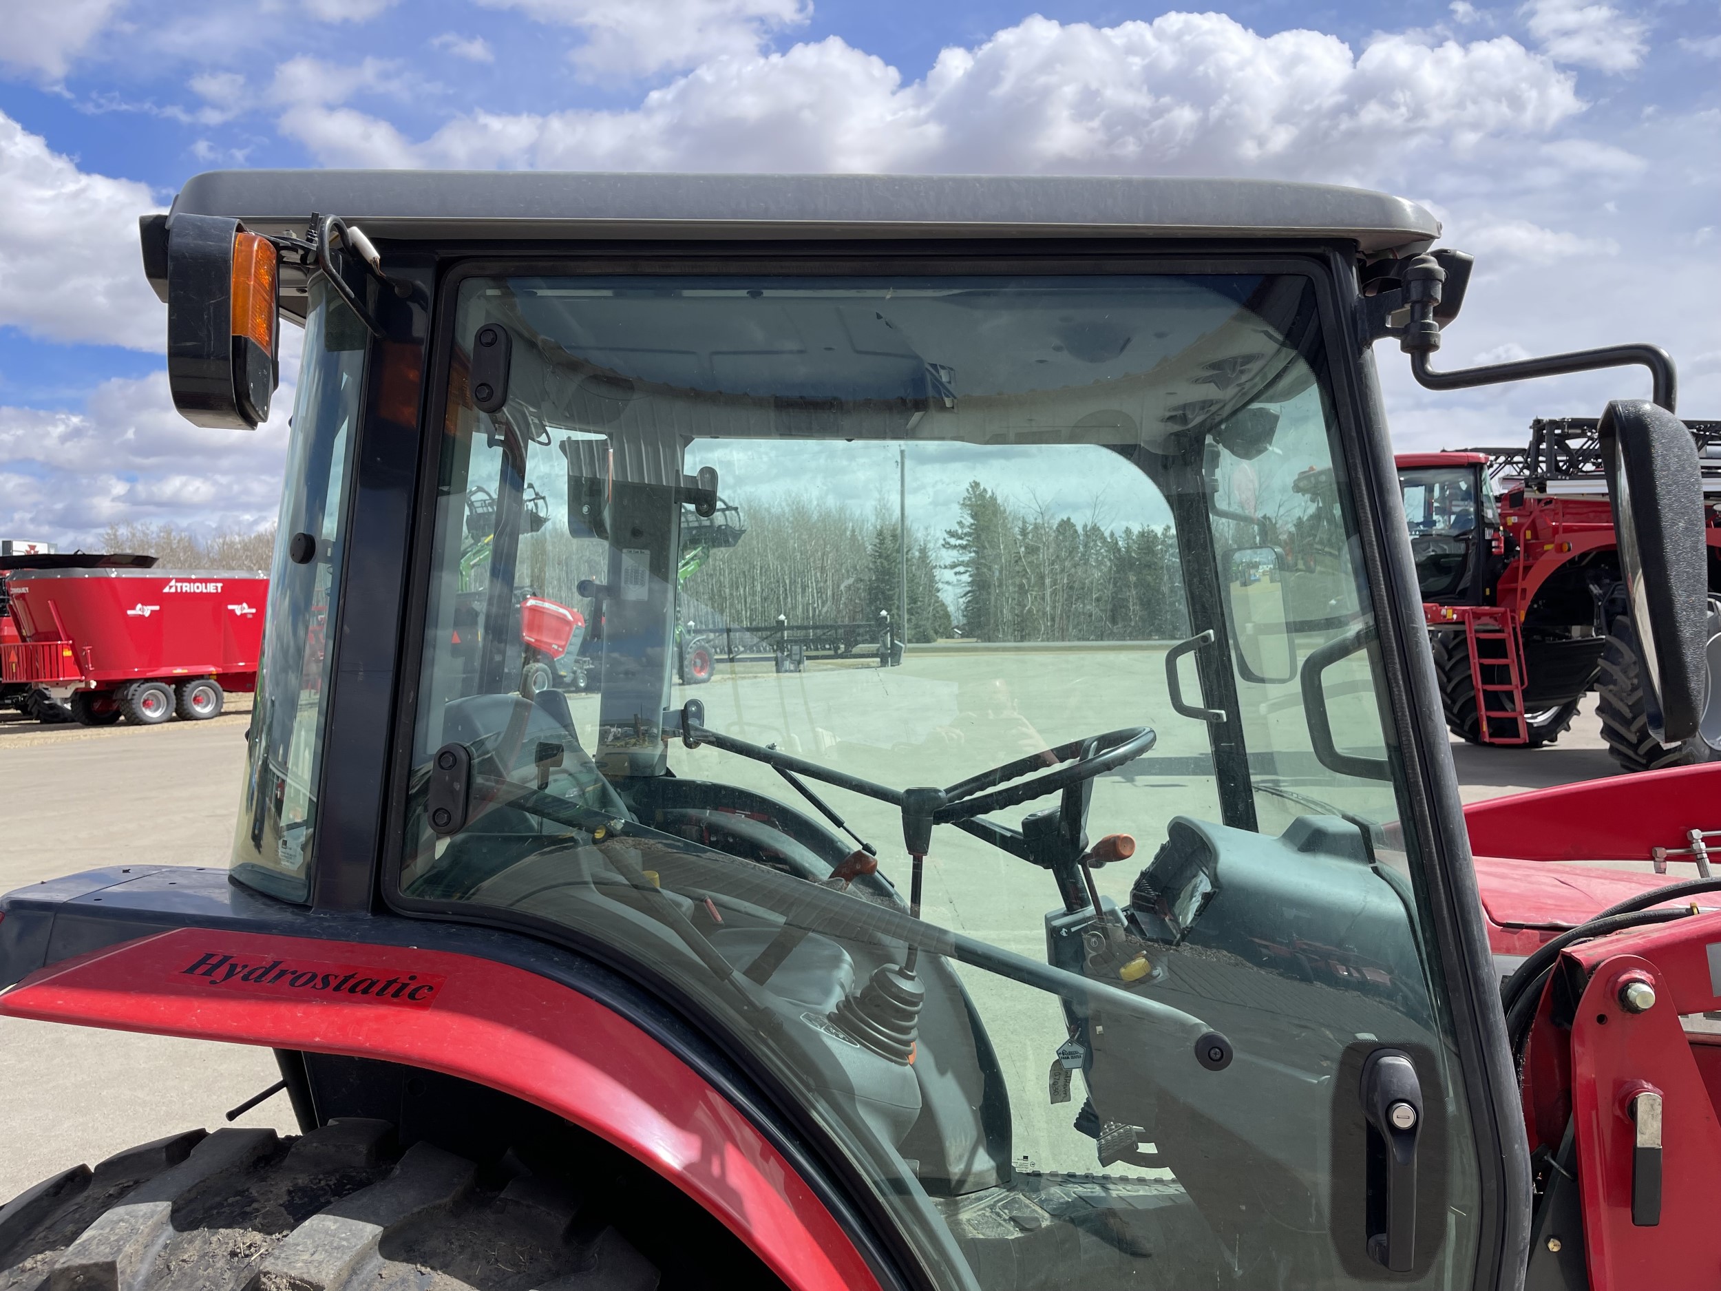
[(162, 348), (138, 250), (138, 217), (162, 208), (146, 184), (86, 174), (0, 112), (0, 327)]

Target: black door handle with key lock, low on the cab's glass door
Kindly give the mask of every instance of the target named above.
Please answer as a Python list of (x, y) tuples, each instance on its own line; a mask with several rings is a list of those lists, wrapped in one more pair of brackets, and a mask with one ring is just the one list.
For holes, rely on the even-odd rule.
[(1377, 1048), (1363, 1062), (1368, 1257), (1396, 1274), (1416, 1260), (1416, 1140), (1422, 1083), (1409, 1055)]

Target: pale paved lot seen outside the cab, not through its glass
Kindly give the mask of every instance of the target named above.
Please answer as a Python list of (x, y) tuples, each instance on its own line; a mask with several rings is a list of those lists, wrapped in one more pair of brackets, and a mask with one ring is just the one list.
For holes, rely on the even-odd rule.
[[(232, 699), (213, 721), (160, 728), (0, 718), (0, 892), (127, 861), (224, 866), (246, 726), (246, 697)], [(1588, 707), (1551, 749), (1454, 742), (1454, 757), (1466, 800), (1613, 773)], [(0, 1201), (79, 1160), (219, 1126), (275, 1079), (260, 1048), (0, 1019)], [(237, 1124), (294, 1129), (286, 1096)]]

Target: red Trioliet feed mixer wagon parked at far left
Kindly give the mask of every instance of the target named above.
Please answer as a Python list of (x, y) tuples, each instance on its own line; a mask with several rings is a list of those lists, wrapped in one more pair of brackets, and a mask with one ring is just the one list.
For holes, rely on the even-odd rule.
[(17, 639), (0, 644), (0, 678), (46, 690), (84, 725), (201, 721), (256, 685), (262, 573), (26, 570), (7, 592)]

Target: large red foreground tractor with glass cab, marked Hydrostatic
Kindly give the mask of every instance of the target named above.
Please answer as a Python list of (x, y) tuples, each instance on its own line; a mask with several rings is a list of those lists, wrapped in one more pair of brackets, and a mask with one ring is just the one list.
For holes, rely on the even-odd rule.
[[(1490, 957), (1368, 348), (1649, 368), (1599, 451), (1664, 742), (1707, 694), (1673, 363), (1432, 367), (1437, 238), (1249, 181), (189, 181), (143, 224), (179, 408), (262, 423), (305, 327), (232, 866), (5, 897), (0, 1014), (268, 1047), (303, 1134), (48, 1177), (0, 1286), (1714, 1284), (1721, 880), (1597, 909), (1571, 799), (1527, 807), (1571, 847), (1501, 857), (1542, 926)], [(866, 577), (900, 487), (965, 606), (1067, 627), (694, 699), (719, 484), (759, 596)], [(1057, 499), (1039, 566), (1000, 497)], [(539, 565), (601, 570), (589, 694), (521, 675)], [(1602, 861), (1704, 842), (1712, 792), (1632, 783), (1669, 802)]]

